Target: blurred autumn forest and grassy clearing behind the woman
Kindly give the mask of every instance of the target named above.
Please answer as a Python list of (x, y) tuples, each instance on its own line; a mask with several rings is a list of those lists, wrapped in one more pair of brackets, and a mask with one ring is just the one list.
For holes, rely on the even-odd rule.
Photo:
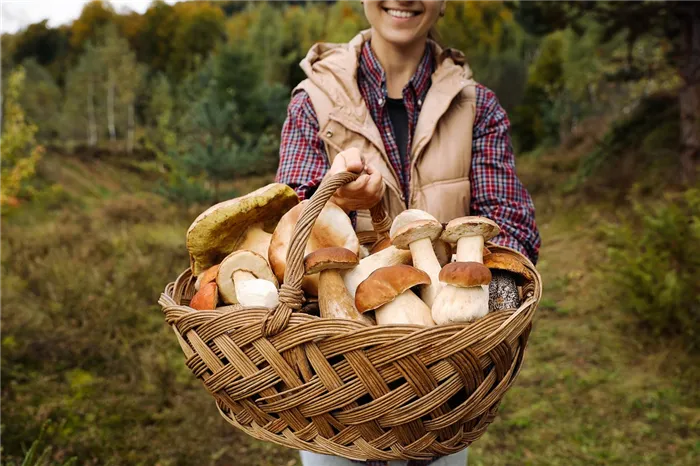
[[(85, 4), (0, 36), (0, 464), (298, 463), (236, 432), (157, 299), (187, 226), (272, 181), (290, 90), (359, 1)], [(545, 293), (470, 464), (700, 463), (700, 6), (449, 1), (508, 112)]]

